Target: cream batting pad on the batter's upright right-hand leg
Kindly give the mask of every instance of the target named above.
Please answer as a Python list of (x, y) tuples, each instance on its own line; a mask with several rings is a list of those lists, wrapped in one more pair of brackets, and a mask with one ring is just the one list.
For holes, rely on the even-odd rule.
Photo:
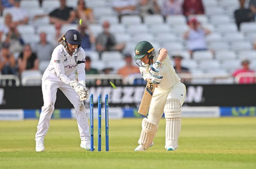
[(181, 104), (178, 99), (168, 99), (164, 106), (165, 148), (168, 146), (178, 147), (178, 136), (181, 131)]

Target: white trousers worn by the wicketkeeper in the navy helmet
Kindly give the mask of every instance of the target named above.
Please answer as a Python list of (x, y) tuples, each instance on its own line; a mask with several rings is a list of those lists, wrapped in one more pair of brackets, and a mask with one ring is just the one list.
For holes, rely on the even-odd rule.
[(72, 87), (63, 83), (56, 75), (52, 74), (48, 76), (46, 80), (42, 81), (44, 106), (42, 106), (42, 112), (37, 125), (36, 141), (44, 140), (45, 134), (49, 129), (50, 118), (53, 114), (58, 88), (66, 95), (76, 110), (76, 119), (81, 140), (89, 139), (88, 118), (83, 101), (80, 101), (79, 95)]

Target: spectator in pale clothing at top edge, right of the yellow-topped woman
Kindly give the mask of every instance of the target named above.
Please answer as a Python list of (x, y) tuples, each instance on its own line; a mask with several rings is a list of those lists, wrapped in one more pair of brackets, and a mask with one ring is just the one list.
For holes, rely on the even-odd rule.
[(123, 15), (138, 14), (136, 11), (136, 0), (115, 0), (112, 7), (117, 12), (120, 21)]

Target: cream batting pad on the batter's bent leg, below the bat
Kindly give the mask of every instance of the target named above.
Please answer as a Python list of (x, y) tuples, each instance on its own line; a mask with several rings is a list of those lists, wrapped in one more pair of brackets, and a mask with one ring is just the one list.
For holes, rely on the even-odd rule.
[(142, 131), (138, 143), (141, 144), (143, 148), (147, 149), (156, 136), (157, 129), (158, 125), (156, 123), (150, 122), (147, 118), (144, 118), (142, 120)]

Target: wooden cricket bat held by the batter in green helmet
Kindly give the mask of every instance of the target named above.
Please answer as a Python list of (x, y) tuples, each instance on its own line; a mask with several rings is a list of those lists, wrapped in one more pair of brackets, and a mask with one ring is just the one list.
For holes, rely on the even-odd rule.
[(139, 105), (138, 113), (142, 115), (147, 115), (147, 111), (150, 106), (151, 98), (153, 96), (154, 90), (155, 90), (156, 84), (153, 84), (150, 81), (147, 81), (147, 86), (145, 88), (142, 100)]

